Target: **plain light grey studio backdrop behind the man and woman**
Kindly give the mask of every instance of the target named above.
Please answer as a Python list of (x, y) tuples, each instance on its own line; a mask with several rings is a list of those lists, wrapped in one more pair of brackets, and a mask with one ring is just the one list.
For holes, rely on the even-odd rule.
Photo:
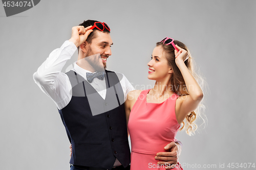
[[(189, 47), (208, 83), (208, 126), (192, 137), (178, 133), (181, 163), (256, 163), (255, 7), (256, 1), (41, 1), (6, 17), (1, 6), (1, 169), (69, 169), (65, 128), (32, 75), (87, 19), (108, 23), (108, 69), (137, 89), (154, 85), (147, 62), (157, 41), (168, 36)], [(67, 66), (76, 59), (77, 53)]]

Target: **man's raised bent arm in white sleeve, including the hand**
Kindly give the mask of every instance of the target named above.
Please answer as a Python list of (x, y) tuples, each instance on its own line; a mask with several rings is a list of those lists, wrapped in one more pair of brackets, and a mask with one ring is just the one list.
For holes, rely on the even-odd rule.
[[(77, 26), (72, 28), (72, 36), (60, 48), (54, 50), (33, 75), (35, 83), (55, 102), (58, 109), (64, 108), (71, 99), (71, 84), (66, 74), (60, 72), (77, 47), (86, 41), (91, 28)], [(83, 41), (83, 42), (82, 42)]]

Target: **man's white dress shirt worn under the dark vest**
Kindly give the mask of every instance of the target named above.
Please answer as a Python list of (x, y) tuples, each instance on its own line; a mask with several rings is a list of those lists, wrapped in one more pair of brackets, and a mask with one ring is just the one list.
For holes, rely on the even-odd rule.
[[(66, 107), (72, 98), (72, 94), (70, 93), (72, 90), (70, 80), (61, 70), (66, 62), (71, 59), (76, 49), (77, 47), (73, 42), (65, 41), (60, 48), (57, 48), (49, 55), (46, 61), (39, 66), (33, 75), (35, 83), (54, 101), (58, 109)], [(87, 80), (86, 73), (90, 71), (79, 67), (76, 62), (74, 63), (73, 70)], [(126, 77), (123, 74), (121, 75), (122, 79), (119, 81), (123, 89), (125, 101), (127, 93), (135, 89)], [(100, 96), (105, 99), (105, 81), (95, 78), (91, 85)]]

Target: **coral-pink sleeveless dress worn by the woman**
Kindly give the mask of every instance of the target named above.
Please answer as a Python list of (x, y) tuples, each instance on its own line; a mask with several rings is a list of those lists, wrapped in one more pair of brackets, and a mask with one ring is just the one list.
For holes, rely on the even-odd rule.
[[(155, 159), (180, 128), (176, 119), (175, 104), (178, 94), (174, 93), (162, 103), (147, 103), (146, 95), (151, 89), (143, 90), (131, 110), (128, 129), (131, 136), (131, 170), (165, 169)], [(180, 164), (173, 169), (182, 169)]]

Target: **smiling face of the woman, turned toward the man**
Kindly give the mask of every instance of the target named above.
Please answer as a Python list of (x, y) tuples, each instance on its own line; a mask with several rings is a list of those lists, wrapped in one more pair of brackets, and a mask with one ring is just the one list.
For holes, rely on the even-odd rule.
[(156, 46), (152, 53), (152, 59), (147, 63), (149, 67), (147, 78), (150, 80), (162, 81), (170, 79), (170, 73), (173, 72), (172, 67), (168, 65), (167, 59), (163, 56), (163, 48)]

